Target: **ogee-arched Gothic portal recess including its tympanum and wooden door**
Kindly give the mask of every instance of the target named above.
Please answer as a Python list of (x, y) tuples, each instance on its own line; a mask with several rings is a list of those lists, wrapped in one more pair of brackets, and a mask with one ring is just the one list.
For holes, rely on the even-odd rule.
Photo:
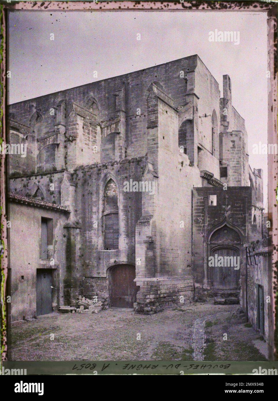
[(212, 289), (239, 290), (242, 243), (241, 231), (227, 217), (209, 231), (207, 278)]

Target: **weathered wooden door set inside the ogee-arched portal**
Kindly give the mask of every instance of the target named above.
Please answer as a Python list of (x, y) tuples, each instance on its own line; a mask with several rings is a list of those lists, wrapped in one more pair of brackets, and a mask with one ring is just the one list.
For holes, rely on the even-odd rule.
[[(212, 256), (218, 257), (238, 257), (238, 251), (232, 248), (218, 248), (212, 252)], [(225, 260), (225, 259), (224, 259)], [(239, 267), (239, 266), (237, 266)], [(212, 266), (212, 283), (214, 288), (238, 288), (240, 269), (235, 270), (234, 267)]]

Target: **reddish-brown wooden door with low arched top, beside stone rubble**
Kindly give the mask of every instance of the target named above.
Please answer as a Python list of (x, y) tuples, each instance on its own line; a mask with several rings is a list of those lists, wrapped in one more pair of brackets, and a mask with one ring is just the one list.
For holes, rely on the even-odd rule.
[(110, 306), (133, 308), (139, 287), (135, 282), (135, 266), (115, 265), (108, 270)]

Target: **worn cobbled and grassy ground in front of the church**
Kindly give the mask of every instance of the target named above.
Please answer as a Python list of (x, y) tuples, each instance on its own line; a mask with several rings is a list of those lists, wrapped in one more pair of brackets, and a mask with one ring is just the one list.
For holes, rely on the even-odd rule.
[(152, 316), (122, 308), (53, 313), (12, 323), (10, 359), (265, 360), (253, 344), (258, 333), (236, 310), (238, 305), (192, 303)]

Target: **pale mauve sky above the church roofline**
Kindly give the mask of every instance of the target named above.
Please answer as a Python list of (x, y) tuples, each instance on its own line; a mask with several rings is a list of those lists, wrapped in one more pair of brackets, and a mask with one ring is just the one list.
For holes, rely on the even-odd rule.
[[(267, 143), (266, 18), (263, 12), (10, 12), (9, 103), (198, 54), (221, 95), (222, 75), (231, 78), (250, 166), (264, 170), (266, 205), (267, 155), (252, 154), (253, 144)], [(209, 42), (215, 29), (239, 31), (240, 44)]]

